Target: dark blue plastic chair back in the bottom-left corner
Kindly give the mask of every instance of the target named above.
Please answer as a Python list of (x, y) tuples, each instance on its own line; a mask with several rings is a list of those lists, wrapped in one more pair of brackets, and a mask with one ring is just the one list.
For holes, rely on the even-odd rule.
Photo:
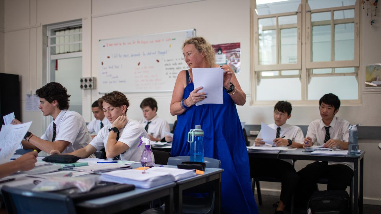
[(1, 191), (8, 213), (76, 213), (73, 201), (66, 195), (34, 192), (8, 186), (3, 186)]

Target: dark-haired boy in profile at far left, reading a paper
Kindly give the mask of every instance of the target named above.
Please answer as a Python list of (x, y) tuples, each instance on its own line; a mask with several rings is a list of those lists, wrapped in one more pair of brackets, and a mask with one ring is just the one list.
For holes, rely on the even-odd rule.
[[(41, 137), (37, 137), (29, 131), (22, 141), (24, 149), (36, 149), (49, 153), (58, 150), (61, 153), (73, 152), (85, 147), (91, 136), (86, 127), (85, 119), (77, 112), (69, 111), (69, 97), (67, 89), (60, 83), (51, 82), (37, 89), (36, 94), (40, 97), (38, 108), (43, 115), (53, 117), (48, 128)], [(14, 119), (13, 125), (21, 123)]]

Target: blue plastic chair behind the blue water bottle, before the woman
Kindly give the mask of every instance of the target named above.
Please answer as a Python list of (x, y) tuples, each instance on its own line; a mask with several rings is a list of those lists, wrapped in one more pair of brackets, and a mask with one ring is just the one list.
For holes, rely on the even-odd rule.
[[(189, 161), (189, 156), (170, 157), (167, 165), (176, 166), (178, 163)], [(214, 158), (204, 158), (207, 168), (220, 168), (221, 161)], [(209, 193), (205, 197), (193, 197), (182, 195), (182, 213), (184, 214), (212, 214), (214, 210), (215, 191), (213, 185), (208, 183), (199, 185), (194, 188), (187, 189), (187, 193)], [(164, 206), (159, 208), (148, 209), (141, 214), (162, 214), (164, 213)]]

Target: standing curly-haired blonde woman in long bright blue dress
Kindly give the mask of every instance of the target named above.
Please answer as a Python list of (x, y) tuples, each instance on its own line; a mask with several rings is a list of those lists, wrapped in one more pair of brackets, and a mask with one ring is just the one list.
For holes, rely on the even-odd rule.
[[(221, 160), (222, 212), (258, 213), (251, 191), (248, 153), (236, 104), (244, 105), (242, 91), (234, 72), (228, 65), (224, 69), (224, 104), (195, 103), (207, 97), (194, 88), (192, 68), (220, 67), (215, 64), (215, 51), (202, 37), (189, 38), (182, 46), (189, 70), (179, 72), (173, 89), (170, 112), (177, 115), (172, 156), (189, 156), (187, 133), (195, 125), (204, 131), (204, 156)], [(210, 80), (213, 81), (213, 80)]]

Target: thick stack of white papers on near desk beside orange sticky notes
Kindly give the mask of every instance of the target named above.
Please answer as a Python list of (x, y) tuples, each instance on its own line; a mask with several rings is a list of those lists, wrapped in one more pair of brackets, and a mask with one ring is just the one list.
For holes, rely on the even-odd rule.
[(140, 188), (152, 188), (163, 184), (174, 182), (173, 175), (166, 172), (155, 172), (147, 169), (124, 170), (102, 173), (101, 180), (116, 182), (119, 184), (133, 184)]

